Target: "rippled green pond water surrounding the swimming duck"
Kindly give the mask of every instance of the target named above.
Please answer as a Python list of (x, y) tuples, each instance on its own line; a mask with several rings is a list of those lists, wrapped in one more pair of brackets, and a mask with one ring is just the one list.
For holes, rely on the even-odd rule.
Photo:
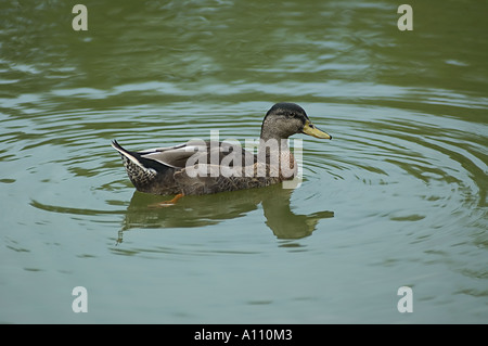
[[(488, 322), (484, 2), (84, 4), (1, 3), (1, 322)], [(295, 190), (149, 208), (110, 146), (244, 142), (280, 101), (334, 138), (295, 137)]]

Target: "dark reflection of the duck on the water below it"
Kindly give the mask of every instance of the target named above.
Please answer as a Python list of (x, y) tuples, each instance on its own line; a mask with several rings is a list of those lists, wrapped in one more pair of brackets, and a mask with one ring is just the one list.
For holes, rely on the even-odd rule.
[(266, 225), (278, 239), (300, 239), (310, 235), (320, 219), (331, 218), (333, 212), (297, 215), (290, 207), (292, 189), (281, 184), (261, 189), (222, 192), (211, 195), (184, 196), (175, 205), (156, 207), (167, 196), (136, 191), (127, 208), (117, 243), (132, 228), (188, 228), (216, 225), (222, 220), (243, 217), (262, 205)]

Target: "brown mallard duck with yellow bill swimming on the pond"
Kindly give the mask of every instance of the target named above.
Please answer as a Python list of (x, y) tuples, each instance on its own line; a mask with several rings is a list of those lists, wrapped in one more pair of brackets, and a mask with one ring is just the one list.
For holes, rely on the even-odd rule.
[(210, 194), (267, 187), (293, 179), (297, 172), (287, 139), (305, 133), (332, 137), (312, 125), (294, 103), (277, 103), (266, 114), (257, 155), (227, 142), (189, 141), (184, 144), (132, 152), (116, 140), (127, 174), (138, 191), (182, 195)]

